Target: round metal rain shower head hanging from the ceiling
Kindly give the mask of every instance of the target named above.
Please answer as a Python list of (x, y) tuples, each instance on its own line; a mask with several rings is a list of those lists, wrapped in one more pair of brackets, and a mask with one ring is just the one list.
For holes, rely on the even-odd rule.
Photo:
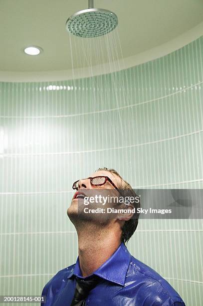
[(66, 29), (80, 37), (97, 37), (105, 35), (118, 24), (118, 17), (108, 9), (94, 8), (93, 0), (89, 7), (74, 13), (66, 21)]

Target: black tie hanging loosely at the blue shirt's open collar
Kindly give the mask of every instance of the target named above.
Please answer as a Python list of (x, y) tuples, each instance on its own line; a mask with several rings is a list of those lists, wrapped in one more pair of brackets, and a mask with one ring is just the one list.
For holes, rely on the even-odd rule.
[(92, 290), (100, 280), (101, 278), (97, 275), (92, 275), (91, 278), (86, 280), (76, 276), (76, 288), (70, 306), (83, 305), (84, 299), (88, 296), (89, 291)]

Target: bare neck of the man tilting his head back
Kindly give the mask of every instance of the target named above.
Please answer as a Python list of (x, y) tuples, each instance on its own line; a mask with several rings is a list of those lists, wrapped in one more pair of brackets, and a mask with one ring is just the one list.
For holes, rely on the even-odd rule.
[(85, 230), (77, 230), (78, 256), (83, 277), (91, 275), (117, 250), (121, 229), (94, 224), (85, 226)]

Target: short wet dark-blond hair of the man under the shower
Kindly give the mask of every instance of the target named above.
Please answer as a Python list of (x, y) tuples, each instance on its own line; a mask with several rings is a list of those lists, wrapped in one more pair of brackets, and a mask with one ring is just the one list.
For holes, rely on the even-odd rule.
[[(135, 190), (131, 187), (131, 185), (125, 179), (123, 179), (121, 175), (115, 169), (108, 169), (106, 167), (103, 167), (103, 168), (98, 168), (96, 171), (108, 171), (108, 172), (111, 172), (117, 175), (121, 179), (120, 185), (117, 186), (118, 189), (124, 192), (127, 191), (128, 195), (130, 193), (131, 196), (134, 196), (134, 197), (138, 196)], [(138, 203), (134, 202), (134, 207), (135, 208), (140, 207), (140, 200)], [(138, 218), (139, 218), (139, 214), (135, 213), (131, 219), (125, 221), (122, 227), (121, 242), (124, 242), (124, 243), (128, 242), (130, 237), (133, 235), (133, 233), (135, 232), (138, 226)]]

